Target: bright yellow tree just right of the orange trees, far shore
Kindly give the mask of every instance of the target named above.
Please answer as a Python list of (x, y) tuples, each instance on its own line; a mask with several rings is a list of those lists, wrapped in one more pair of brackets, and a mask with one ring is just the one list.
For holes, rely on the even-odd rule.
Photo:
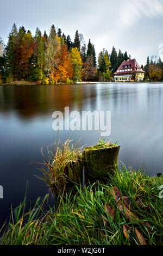
[(72, 48), (71, 49), (71, 63), (73, 64), (73, 81), (77, 82), (82, 77), (82, 58), (80, 56), (80, 53), (78, 51), (78, 48)]

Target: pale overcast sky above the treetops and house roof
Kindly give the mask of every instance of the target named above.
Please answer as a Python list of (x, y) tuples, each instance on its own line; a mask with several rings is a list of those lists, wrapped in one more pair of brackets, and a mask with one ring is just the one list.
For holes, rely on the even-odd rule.
[[(96, 54), (115, 46), (141, 64), (158, 55), (163, 44), (163, 0), (0, 0), (0, 36), (6, 43), (12, 24), (35, 33), (49, 33), (51, 25), (66, 35), (78, 29)], [(162, 59), (163, 60), (163, 59)]]

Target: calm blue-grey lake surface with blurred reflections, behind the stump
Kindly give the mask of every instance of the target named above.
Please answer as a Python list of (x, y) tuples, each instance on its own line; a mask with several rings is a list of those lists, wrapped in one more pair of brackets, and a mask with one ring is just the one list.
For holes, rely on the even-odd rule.
[[(121, 162), (151, 175), (163, 172), (163, 84), (97, 83), (56, 86), (0, 86), (0, 222), (9, 215), (10, 204), (22, 202), (28, 180), (27, 200), (45, 196), (41, 147), (52, 148), (56, 138), (92, 145), (100, 131), (54, 131), (52, 113), (111, 111), (111, 135), (121, 145)], [(49, 198), (49, 203), (53, 199)]]

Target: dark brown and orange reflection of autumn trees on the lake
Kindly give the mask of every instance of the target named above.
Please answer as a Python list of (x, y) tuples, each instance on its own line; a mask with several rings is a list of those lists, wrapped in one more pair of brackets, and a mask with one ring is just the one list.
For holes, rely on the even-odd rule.
[(64, 111), (65, 106), (82, 106), (83, 87), (61, 86), (5, 86), (0, 88), (0, 111), (13, 109), (21, 118)]

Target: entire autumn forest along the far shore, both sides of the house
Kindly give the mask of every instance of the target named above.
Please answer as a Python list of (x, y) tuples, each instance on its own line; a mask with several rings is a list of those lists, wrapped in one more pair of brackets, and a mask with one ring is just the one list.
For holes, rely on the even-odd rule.
[[(83, 34), (78, 33), (71, 40), (59, 28), (51, 27), (49, 35), (35, 35), (15, 23), (8, 36), (7, 45), (0, 38), (0, 83), (34, 81), (38, 84), (71, 83), (77, 81), (110, 81), (123, 60), (131, 58), (127, 52), (111, 53), (103, 50), (96, 59), (95, 46), (89, 39), (85, 44)], [(143, 66), (142, 66), (143, 68)], [(146, 78), (162, 81), (163, 63), (154, 57), (144, 67)]]

